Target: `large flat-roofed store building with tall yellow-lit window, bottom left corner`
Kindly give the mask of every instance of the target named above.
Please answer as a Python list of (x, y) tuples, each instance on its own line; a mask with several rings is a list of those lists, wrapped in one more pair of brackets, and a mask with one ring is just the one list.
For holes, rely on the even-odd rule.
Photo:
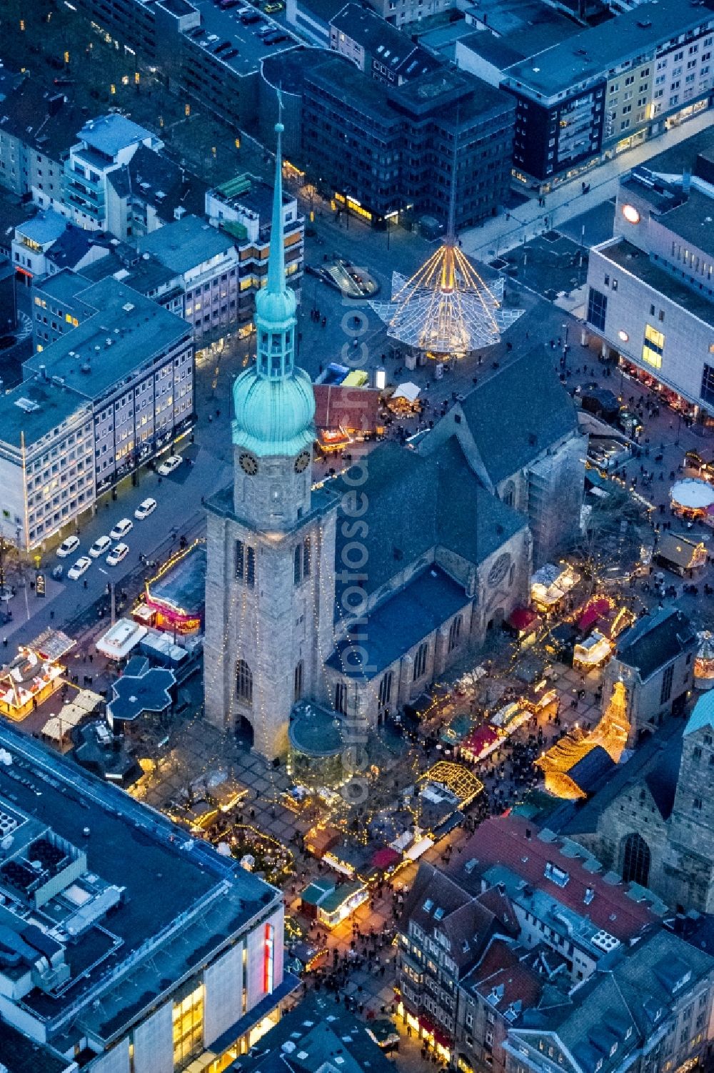
[(280, 891), (31, 737), (3, 726), (0, 747), (0, 1041), (43, 1073), (246, 1054), (297, 984)]

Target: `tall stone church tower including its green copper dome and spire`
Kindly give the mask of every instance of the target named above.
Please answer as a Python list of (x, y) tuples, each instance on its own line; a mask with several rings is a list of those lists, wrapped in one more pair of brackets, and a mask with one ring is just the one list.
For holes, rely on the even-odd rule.
[(295, 365), (285, 282), (283, 130), (279, 121), (256, 361), (233, 388), (233, 487), (207, 504), (206, 717), (226, 731), (250, 724), (267, 760), (285, 752), (293, 704), (325, 692), (334, 606), (334, 509), (312, 494), (315, 400)]

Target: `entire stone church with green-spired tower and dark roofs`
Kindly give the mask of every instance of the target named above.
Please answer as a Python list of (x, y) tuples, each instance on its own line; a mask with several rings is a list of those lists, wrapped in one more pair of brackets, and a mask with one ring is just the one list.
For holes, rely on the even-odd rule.
[(578, 532), (585, 445), (552, 364), (534, 352), (418, 444), (377, 444), (313, 487), (314, 394), (296, 364), (280, 241), (255, 325), (255, 364), (233, 391), (234, 480), (207, 501), (205, 714), (228, 732), (250, 727), (272, 761), (297, 702), (375, 726), (529, 603), (534, 564)]

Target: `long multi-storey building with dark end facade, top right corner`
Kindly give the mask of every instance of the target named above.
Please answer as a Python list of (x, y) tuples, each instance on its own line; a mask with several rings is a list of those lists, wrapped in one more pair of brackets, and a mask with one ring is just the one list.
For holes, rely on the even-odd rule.
[(461, 67), (512, 93), (512, 177), (548, 193), (710, 107), (714, 0), (646, 0), (539, 44), (489, 32), (459, 43)]

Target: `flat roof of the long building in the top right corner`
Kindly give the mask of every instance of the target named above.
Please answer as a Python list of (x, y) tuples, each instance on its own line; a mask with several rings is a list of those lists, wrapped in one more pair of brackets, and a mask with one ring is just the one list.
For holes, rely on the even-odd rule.
[(699, 26), (712, 12), (714, 0), (702, 0), (697, 6), (682, 0), (648, 0), (537, 55), (531, 53), (527, 60), (507, 68), (504, 74), (536, 94), (550, 98)]

